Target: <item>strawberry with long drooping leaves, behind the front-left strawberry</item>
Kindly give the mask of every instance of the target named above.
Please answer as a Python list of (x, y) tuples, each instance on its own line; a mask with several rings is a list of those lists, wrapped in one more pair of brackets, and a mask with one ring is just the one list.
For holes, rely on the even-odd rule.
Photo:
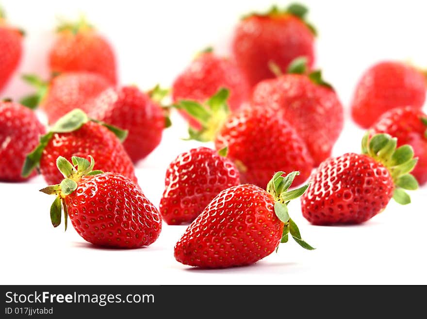
[(48, 184), (58, 184), (63, 179), (55, 167), (58, 156), (62, 154), (71, 160), (72, 156), (88, 158), (93, 155), (98, 168), (122, 174), (136, 183), (132, 161), (119, 139), (125, 137), (125, 131), (91, 121), (82, 110), (75, 109), (40, 138), (39, 145), (26, 158), (22, 175), (28, 176), (39, 166)]

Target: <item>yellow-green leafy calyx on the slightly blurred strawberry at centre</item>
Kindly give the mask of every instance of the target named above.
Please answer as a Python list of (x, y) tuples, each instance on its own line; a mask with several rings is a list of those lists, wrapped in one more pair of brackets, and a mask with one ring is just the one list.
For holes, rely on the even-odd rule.
[(230, 114), (227, 104), (229, 94), (228, 89), (220, 88), (203, 105), (190, 100), (181, 100), (173, 105), (173, 107), (187, 112), (201, 125), (201, 129), (198, 131), (192, 127), (188, 128), (188, 140), (209, 142), (215, 138)]

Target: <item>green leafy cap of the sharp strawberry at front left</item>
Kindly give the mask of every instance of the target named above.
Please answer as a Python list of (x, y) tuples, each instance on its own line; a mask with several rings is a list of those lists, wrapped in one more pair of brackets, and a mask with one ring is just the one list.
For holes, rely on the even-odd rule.
[(90, 162), (83, 158), (73, 156), (68, 162), (66, 158), (59, 156), (56, 159), (56, 167), (64, 175), (64, 179), (60, 184), (50, 185), (40, 189), (41, 192), (48, 195), (56, 195), (55, 200), (50, 206), (50, 220), (53, 227), (58, 227), (61, 224), (61, 215), (64, 211), (65, 230), (67, 228), (68, 212), (64, 199), (77, 189), (77, 183), (83, 176), (92, 176), (101, 174), (100, 170), (93, 170), (95, 166), (94, 158), (89, 155)]

